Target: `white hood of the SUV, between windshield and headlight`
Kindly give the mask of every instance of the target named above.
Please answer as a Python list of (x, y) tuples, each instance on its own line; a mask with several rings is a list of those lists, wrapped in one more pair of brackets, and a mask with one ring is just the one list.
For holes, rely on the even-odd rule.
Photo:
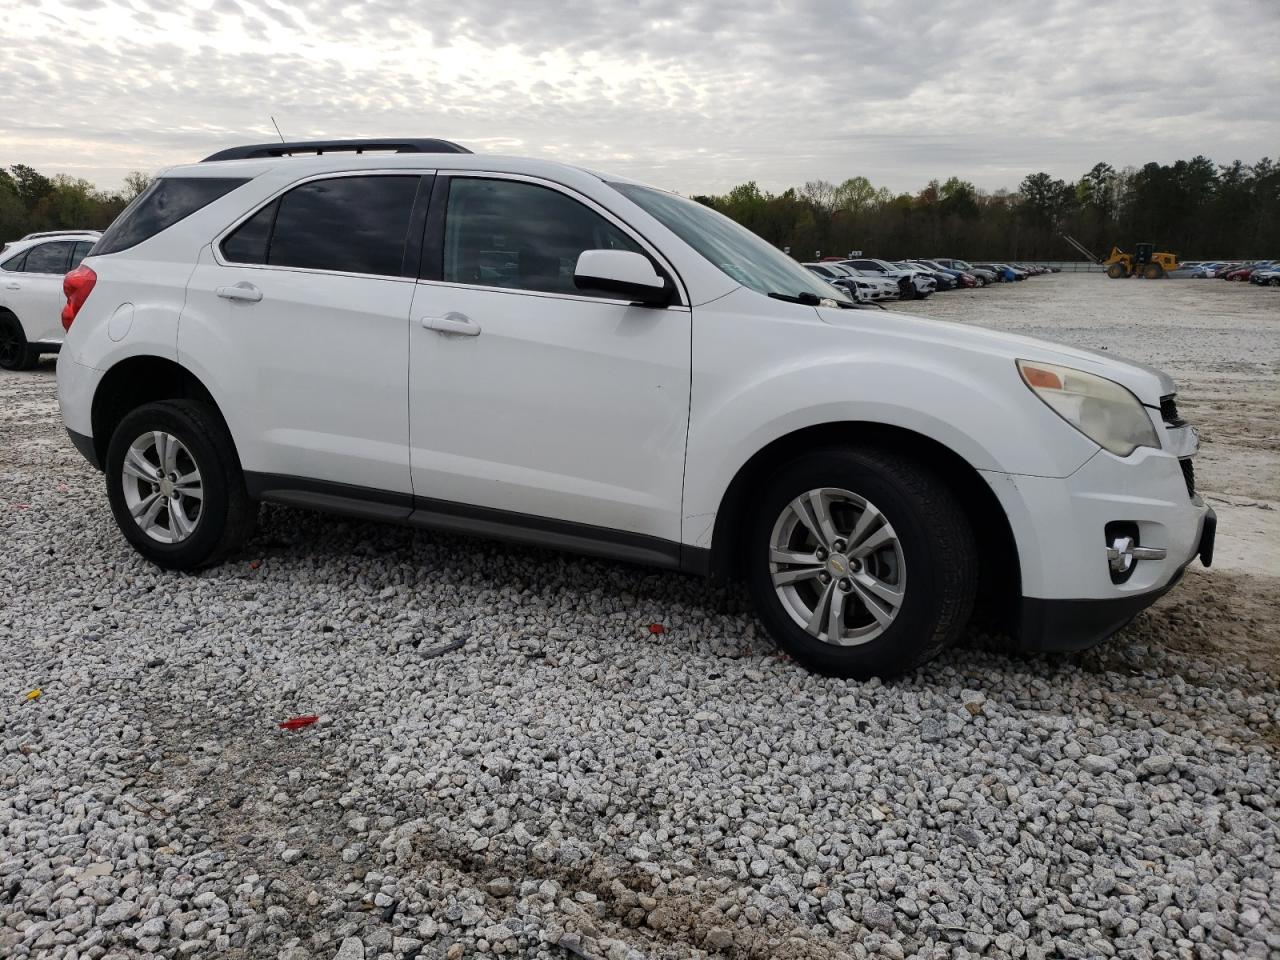
[[(828, 324), (852, 326), (852, 317), (846, 316), (852, 311), (828, 307), (815, 307), (815, 310)], [(860, 314), (858, 320), (864, 320), (864, 316)], [(883, 321), (882, 329), (886, 334), (918, 337), (931, 343), (952, 346), (956, 349), (1005, 356), (1010, 361), (1039, 360), (1105, 376), (1128, 388), (1148, 407), (1158, 407), (1161, 397), (1178, 392), (1172, 378), (1164, 370), (1135, 360), (1126, 360), (1108, 351), (1069, 347), (1065, 343), (1053, 343), (1036, 337), (988, 330), (982, 326), (965, 326), (951, 320), (931, 320), (909, 314), (884, 311), (879, 314), (878, 319)], [(859, 325), (864, 324), (859, 323)], [(881, 325), (877, 324), (877, 326)]]

